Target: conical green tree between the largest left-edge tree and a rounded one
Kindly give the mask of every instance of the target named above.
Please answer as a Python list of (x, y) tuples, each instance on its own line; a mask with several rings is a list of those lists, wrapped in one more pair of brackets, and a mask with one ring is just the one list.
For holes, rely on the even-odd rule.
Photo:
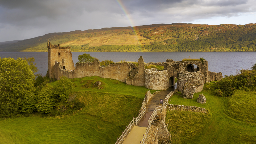
[(52, 111), (55, 103), (52, 88), (47, 84), (41, 92), (38, 93), (36, 109), (40, 113), (48, 114)]

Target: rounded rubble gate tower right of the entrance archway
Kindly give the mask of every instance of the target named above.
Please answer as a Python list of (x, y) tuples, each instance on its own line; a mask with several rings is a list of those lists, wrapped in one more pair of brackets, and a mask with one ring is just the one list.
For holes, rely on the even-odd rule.
[(177, 88), (180, 92), (183, 90), (183, 86), (187, 83), (191, 83), (196, 87), (195, 92), (201, 92), (204, 87), (204, 75), (201, 71), (197, 72), (179, 72)]

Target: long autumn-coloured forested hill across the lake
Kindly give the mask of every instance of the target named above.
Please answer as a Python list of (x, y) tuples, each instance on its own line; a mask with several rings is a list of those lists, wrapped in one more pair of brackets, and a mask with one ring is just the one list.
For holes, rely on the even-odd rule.
[(1, 44), (0, 51), (47, 52), (48, 39), (52, 44), (70, 46), (73, 52), (251, 52), (256, 51), (256, 24), (173, 23), (77, 30)]

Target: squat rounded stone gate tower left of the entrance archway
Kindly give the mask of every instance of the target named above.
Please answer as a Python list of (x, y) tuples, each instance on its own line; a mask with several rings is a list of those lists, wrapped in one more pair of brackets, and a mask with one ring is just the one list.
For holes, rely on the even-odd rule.
[(168, 71), (145, 70), (145, 87), (151, 90), (167, 90), (169, 88)]

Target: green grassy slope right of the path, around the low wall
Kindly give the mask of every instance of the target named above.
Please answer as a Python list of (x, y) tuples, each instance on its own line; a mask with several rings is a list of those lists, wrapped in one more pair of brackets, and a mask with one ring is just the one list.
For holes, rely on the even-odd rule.
[[(213, 85), (205, 85), (204, 90), (195, 93), (192, 100), (177, 94), (171, 98), (171, 104), (198, 106), (210, 111), (209, 114), (168, 111), (166, 123), (173, 143), (256, 143), (255, 92), (236, 90), (233, 96), (221, 98), (212, 93)], [(201, 93), (207, 99), (205, 104), (197, 103), (196, 98)], [(249, 122), (240, 121), (240, 118)]]

